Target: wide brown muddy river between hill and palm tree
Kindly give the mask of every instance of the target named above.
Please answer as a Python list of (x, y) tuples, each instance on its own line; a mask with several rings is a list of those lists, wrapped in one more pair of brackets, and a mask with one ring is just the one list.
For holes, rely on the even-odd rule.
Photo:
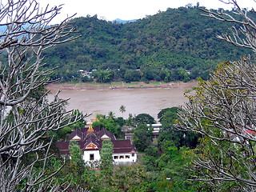
[[(62, 90), (60, 98), (70, 98), (67, 110), (78, 109), (83, 114), (114, 112), (115, 117), (128, 118), (129, 114), (150, 114), (158, 122), (160, 110), (172, 106), (182, 106), (187, 102), (183, 93), (186, 89), (134, 89), (134, 90)], [(56, 90), (51, 90), (49, 100), (52, 101)], [(119, 111), (126, 106), (126, 112)]]

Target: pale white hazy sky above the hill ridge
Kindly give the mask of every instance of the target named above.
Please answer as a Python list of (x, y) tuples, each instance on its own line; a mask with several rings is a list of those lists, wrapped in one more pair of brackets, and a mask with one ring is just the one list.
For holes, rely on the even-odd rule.
[[(188, 3), (195, 6), (197, 2), (206, 8), (230, 9), (232, 7), (219, 0), (39, 0), (38, 2), (41, 2), (42, 6), (47, 3), (50, 3), (50, 6), (64, 4), (62, 14), (59, 14), (54, 22), (60, 22), (66, 18), (67, 14), (75, 13), (77, 13), (76, 17), (98, 14), (98, 18), (104, 18), (107, 21), (113, 21), (116, 18), (131, 20), (157, 14), (158, 10), (165, 11), (168, 7), (178, 8)], [(249, 9), (256, 7), (254, 0), (238, 0), (239, 2), (242, 7)]]

